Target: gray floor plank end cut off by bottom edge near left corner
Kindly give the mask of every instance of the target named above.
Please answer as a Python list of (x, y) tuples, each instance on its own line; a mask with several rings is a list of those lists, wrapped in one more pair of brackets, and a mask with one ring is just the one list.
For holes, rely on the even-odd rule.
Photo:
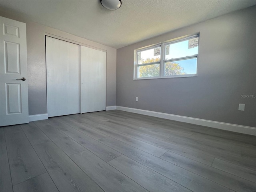
[(13, 187), (14, 192), (58, 192), (48, 173), (36, 176)]

